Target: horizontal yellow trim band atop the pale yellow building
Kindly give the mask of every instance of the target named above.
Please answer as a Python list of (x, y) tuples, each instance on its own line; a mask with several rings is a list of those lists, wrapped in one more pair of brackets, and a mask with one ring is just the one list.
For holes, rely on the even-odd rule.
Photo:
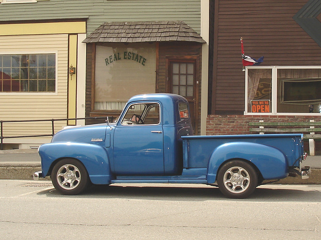
[(0, 35), (86, 33), (85, 21), (0, 24)]

